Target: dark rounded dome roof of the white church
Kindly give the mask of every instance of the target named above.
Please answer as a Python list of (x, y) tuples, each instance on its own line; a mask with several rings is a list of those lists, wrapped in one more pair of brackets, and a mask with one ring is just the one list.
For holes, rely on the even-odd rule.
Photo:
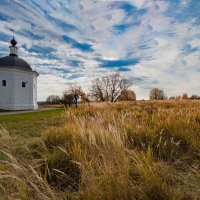
[(0, 58), (0, 68), (6, 67), (10, 69), (21, 69), (32, 72), (30, 65), (21, 58), (17, 56), (5, 56)]

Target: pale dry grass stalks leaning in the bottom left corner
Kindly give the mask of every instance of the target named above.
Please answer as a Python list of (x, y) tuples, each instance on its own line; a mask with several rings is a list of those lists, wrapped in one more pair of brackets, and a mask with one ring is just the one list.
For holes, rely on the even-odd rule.
[(0, 127), (0, 147), (1, 200), (59, 199), (32, 166), (15, 158), (10, 135), (3, 127)]

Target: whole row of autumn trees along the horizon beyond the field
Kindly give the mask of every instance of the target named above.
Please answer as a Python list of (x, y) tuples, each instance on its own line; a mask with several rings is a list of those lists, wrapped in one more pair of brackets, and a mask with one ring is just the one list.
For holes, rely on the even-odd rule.
[[(62, 103), (71, 106), (78, 105), (78, 102), (117, 102), (117, 101), (135, 101), (136, 94), (130, 89), (132, 83), (123, 78), (120, 74), (111, 74), (92, 81), (90, 92), (86, 93), (81, 86), (70, 87), (63, 92), (62, 97), (50, 95), (46, 102), (49, 104)], [(173, 99), (200, 99), (198, 95), (188, 97), (187, 93), (182, 96), (172, 96), (167, 98), (164, 91), (159, 88), (152, 88), (149, 93), (150, 100), (173, 100)]]

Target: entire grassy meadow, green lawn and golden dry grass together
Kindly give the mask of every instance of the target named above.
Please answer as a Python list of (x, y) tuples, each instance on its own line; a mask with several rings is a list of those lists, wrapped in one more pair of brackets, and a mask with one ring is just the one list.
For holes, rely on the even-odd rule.
[(198, 200), (200, 101), (0, 116), (0, 199)]

